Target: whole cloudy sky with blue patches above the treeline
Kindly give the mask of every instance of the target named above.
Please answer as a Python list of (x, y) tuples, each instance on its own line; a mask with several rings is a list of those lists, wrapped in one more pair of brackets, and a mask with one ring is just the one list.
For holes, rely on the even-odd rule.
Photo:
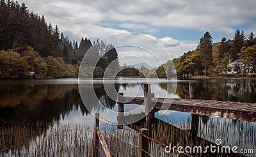
[[(65, 36), (78, 43), (82, 36), (94, 41), (114, 33), (138, 32), (158, 40), (171, 57), (194, 50), (205, 31), (211, 33), (214, 42), (223, 37), (232, 38), (236, 29), (243, 29), (246, 36), (251, 31), (256, 33), (256, 1), (253, 0), (19, 1), (23, 2), (29, 11), (44, 15), (47, 24), (57, 24)], [(124, 54), (118, 52), (119, 56)], [(150, 57), (146, 59), (153, 66), (159, 65)], [(121, 61), (125, 62), (138, 61)]]

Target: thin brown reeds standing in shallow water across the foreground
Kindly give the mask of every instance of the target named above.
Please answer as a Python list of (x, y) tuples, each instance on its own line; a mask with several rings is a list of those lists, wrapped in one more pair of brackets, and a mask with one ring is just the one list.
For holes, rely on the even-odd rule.
[[(150, 128), (149, 137), (166, 145), (171, 143), (172, 146), (204, 147), (220, 138), (223, 146), (236, 145), (255, 150), (255, 123), (210, 118), (207, 123), (200, 119), (198, 124), (196, 136), (199, 138), (192, 136), (189, 121), (173, 125), (155, 121), (149, 124), (131, 124), (130, 127), (134, 130)], [(100, 124), (100, 130), (113, 156), (138, 156), (140, 135), (129, 129), (118, 130), (115, 125)], [(0, 156), (93, 156), (92, 138), (93, 126), (88, 124), (52, 124), (44, 121), (28, 124), (0, 119)], [(148, 146), (152, 156), (184, 156), (165, 153), (164, 147), (155, 142)], [(101, 146), (99, 154), (104, 156)]]

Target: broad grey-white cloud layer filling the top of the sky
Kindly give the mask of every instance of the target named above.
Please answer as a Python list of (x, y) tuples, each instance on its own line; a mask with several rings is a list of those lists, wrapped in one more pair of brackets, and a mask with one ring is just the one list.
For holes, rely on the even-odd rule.
[[(124, 29), (156, 31), (156, 26), (174, 26), (202, 31), (234, 33), (232, 26), (252, 23), (256, 1), (31, 1), (29, 10), (44, 14), (47, 21), (61, 30), (102, 38), (123, 31), (113, 29), (113, 22)], [(100, 26), (100, 23), (105, 26)], [(254, 21), (255, 22), (255, 21)]]

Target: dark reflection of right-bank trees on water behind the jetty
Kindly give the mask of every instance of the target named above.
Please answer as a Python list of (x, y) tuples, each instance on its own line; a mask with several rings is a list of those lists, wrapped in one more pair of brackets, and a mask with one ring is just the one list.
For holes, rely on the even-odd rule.
[[(172, 84), (172, 82), (160, 83), (159, 87), (171, 93), (169, 87)], [(196, 87), (198, 99), (256, 103), (256, 80), (196, 80)], [(180, 98), (189, 99), (189, 82), (186, 80), (178, 82), (176, 94)]]

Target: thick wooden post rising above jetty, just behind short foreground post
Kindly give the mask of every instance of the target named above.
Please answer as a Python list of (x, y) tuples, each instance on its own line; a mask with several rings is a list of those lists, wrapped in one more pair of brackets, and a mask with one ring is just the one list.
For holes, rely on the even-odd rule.
[(155, 117), (153, 103), (152, 103), (152, 97), (151, 97), (151, 87), (150, 87), (150, 84), (144, 84), (143, 93), (144, 93), (144, 104), (145, 104), (146, 121), (150, 122)]

